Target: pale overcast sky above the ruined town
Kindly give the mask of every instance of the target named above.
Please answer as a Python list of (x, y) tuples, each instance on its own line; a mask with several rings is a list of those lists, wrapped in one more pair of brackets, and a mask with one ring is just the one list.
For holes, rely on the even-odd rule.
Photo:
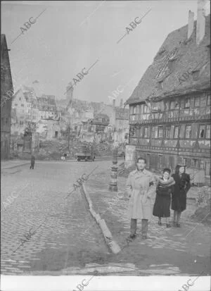
[[(129, 23), (150, 9), (117, 44)], [(188, 23), (189, 9), (196, 19), (197, 1), (191, 0), (1, 1), (1, 33), (11, 49), (13, 86), (38, 80), (44, 94), (63, 99), (68, 83), (98, 60), (75, 85), (74, 98), (108, 104), (108, 96), (130, 81), (117, 104), (121, 98), (126, 101), (167, 35)], [(20, 27), (37, 16), (20, 35)]]

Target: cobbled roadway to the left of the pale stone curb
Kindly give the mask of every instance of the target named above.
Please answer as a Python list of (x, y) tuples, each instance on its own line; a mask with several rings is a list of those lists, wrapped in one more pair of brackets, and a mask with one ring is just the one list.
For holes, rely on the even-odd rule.
[[(1, 205), (1, 273), (52, 271), (100, 261), (108, 248), (79, 191), (63, 199), (73, 182), (96, 165), (44, 162), (35, 166), (1, 177), (1, 204), (28, 184), (6, 209)], [(25, 233), (35, 230), (45, 217), (37, 233), (13, 252)]]

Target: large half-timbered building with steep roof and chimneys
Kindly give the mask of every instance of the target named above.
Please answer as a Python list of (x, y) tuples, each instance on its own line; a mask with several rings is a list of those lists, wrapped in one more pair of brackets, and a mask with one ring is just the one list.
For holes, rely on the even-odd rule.
[(127, 104), (127, 166), (143, 156), (148, 168), (186, 163), (194, 182), (210, 177), (210, 16), (202, 7), (197, 21), (189, 11), (188, 25), (167, 36)]

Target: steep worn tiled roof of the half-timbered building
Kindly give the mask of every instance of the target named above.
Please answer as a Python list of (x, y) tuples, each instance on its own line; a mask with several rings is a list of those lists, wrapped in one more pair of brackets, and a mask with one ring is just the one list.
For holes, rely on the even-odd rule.
[(143, 74), (127, 104), (210, 88), (210, 15), (205, 36), (196, 44), (196, 21), (188, 39), (188, 25), (171, 32)]

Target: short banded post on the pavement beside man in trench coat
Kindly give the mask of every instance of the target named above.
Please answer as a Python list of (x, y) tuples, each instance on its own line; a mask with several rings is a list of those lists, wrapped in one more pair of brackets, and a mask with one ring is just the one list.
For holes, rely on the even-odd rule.
[(110, 174), (110, 183), (108, 190), (110, 192), (117, 192), (117, 160), (118, 160), (118, 143), (113, 143), (113, 166), (111, 167), (111, 174)]

